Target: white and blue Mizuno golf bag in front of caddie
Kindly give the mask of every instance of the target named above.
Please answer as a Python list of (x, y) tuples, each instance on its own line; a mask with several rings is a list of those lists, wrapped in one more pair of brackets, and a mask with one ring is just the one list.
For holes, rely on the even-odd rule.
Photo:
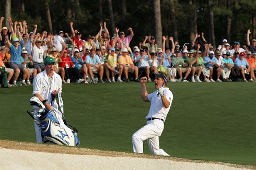
[[(34, 119), (36, 124), (40, 126), (42, 141), (44, 143), (60, 144), (77, 147), (80, 144), (77, 138), (77, 129), (66, 123), (62, 119), (62, 113), (56, 108), (48, 111), (42, 102), (33, 96), (30, 99), (31, 105), (36, 105), (38, 108), (33, 108), (27, 113)], [(69, 127), (73, 127), (73, 130)]]

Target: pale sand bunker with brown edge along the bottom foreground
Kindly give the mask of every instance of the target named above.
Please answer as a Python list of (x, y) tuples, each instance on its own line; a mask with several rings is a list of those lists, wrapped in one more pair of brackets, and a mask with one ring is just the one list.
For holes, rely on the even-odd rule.
[(0, 140), (0, 169), (256, 169), (125, 152)]

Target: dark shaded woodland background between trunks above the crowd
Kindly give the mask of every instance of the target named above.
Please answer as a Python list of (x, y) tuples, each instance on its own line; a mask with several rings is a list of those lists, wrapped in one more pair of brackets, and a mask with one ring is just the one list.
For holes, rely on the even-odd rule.
[[(7, 1), (7, 0), (5, 0)], [(0, 5), (5, 7), (5, 1), (1, 1)], [(227, 8), (227, 1), (230, 1), (231, 8)], [(31, 31), (35, 24), (38, 25), (38, 31), (49, 31), (49, 23), (46, 15), (45, 2), (48, 2), (51, 14), (53, 33), (58, 33), (60, 30), (70, 32), (69, 23), (74, 22), (74, 28), (82, 32), (84, 38), (88, 35), (95, 35), (100, 29), (100, 22), (106, 21), (111, 37), (113, 30), (110, 28), (110, 13), (108, 0), (88, 1), (88, 0), (13, 0), (11, 1), (11, 18), (13, 21), (26, 20), (28, 29)], [(162, 34), (173, 36), (171, 1), (162, 0), (161, 3), (161, 25)], [(190, 9), (189, 4), (193, 2), (196, 9), (197, 33), (204, 32), (205, 38), (209, 37), (209, 6), (207, 1), (203, 0), (173, 0), (176, 26), (180, 43), (189, 42), (192, 30), (190, 28)], [(231, 19), (230, 26), (230, 43), (239, 41), (242, 44), (246, 43), (246, 32), (251, 29), (252, 34), (250, 39), (256, 38), (256, 1), (250, 0), (213, 0), (212, 7), (214, 13), (214, 35), (216, 42), (211, 42), (216, 45), (222, 42), (222, 39), (229, 39), (227, 35), (227, 15)], [(133, 28), (134, 38), (131, 45), (138, 45), (143, 41), (146, 35), (156, 35), (159, 30), (156, 30), (154, 21), (154, 1), (125, 1), (112, 0), (114, 25), (120, 31), (129, 34), (127, 29)], [(22, 11), (22, 5), (24, 11)], [(6, 16), (5, 10), (0, 11), (1, 16)], [(175, 39), (174, 39), (175, 40)], [(175, 40), (176, 41), (176, 40)]]

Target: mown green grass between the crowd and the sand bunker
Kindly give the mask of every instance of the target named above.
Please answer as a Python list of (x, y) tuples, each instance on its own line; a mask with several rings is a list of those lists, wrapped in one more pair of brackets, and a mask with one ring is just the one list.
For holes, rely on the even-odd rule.
[[(160, 137), (171, 156), (256, 165), (256, 83), (168, 83), (174, 99)], [(146, 124), (150, 103), (140, 83), (63, 84), (67, 122), (79, 147), (132, 152), (133, 133)], [(149, 93), (154, 83), (147, 83)], [(32, 86), (0, 88), (0, 138), (36, 142), (29, 99)], [(144, 141), (144, 153), (149, 154)]]

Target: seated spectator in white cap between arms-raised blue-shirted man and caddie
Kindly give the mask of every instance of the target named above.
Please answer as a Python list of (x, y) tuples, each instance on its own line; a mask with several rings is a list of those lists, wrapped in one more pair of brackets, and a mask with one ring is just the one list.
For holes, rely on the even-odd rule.
[(21, 60), (21, 63), (24, 64), (25, 68), (28, 69), (27, 85), (31, 85), (30, 76), (34, 78), (37, 75), (37, 69), (32, 68), (33, 67), (32, 56), (31, 55), (28, 56), (28, 52), (24, 50), (24, 51), (21, 51), (20, 60)]

